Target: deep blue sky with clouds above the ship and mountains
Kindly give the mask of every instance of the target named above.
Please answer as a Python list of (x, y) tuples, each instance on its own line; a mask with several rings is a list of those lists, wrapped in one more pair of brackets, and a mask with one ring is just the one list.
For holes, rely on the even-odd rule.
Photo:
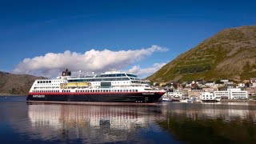
[[(154, 66), (159, 68), (170, 62), (219, 30), (255, 25), (255, 6), (256, 2), (246, 0), (1, 0), (0, 70), (54, 76), (56, 72), (52, 70), (76, 65), (85, 57), (94, 60), (90, 57), (94, 54), (90, 51), (92, 49), (100, 55), (114, 54), (114, 61), (119, 61), (118, 52), (123, 50), (123, 54), (131, 54), (128, 58), (134, 60), (122, 59), (122, 63), (110, 64), (97, 58), (95, 61), (102, 62), (102, 68), (86, 67), (82, 70), (101, 72), (107, 68), (118, 68), (146, 76), (142, 73), (150, 70), (147, 74), (153, 73), (156, 70), (152, 69)], [(161, 50), (152, 48), (154, 45)], [(55, 57), (66, 57), (66, 50), (70, 50), (70, 55), (78, 54), (80, 59), (72, 63), (75, 54), (69, 55), (71, 64), (67, 62), (65, 65), (65, 61), (62, 66), (51, 67), (56, 62)], [(134, 50), (134, 53), (129, 50)], [(136, 50), (142, 55), (133, 57)], [(88, 51), (90, 53), (85, 54)], [(52, 53), (51, 57), (46, 57), (48, 53)], [(41, 59), (38, 58), (40, 56)], [(46, 63), (46, 58), (53, 58), (51, 65), (41, 66), (40, 62)], [(103, 55), (102, 58), (107, 57)], [(86, 62), (78, 66), (94, 66)], [(73, 66), (72, 69), (80, 68)]]

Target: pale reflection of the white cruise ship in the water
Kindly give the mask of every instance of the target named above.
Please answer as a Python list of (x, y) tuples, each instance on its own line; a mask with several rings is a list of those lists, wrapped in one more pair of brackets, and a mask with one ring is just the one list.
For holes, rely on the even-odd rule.
[[(161, 111), (143, 106), (29, 105), (28, 116), (42, 138), (81, 138), (85, 142), (131, 141)], [(54, 130), (53, 130), (54, 129)]]

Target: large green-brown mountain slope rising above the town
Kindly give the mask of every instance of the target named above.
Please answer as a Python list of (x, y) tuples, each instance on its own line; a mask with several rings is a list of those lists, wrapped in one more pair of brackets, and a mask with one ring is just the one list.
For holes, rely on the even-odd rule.
[(222, 30), (180, 54), (148, 77), (153, 82), (184, 82), (256, 77), (256, 26)]

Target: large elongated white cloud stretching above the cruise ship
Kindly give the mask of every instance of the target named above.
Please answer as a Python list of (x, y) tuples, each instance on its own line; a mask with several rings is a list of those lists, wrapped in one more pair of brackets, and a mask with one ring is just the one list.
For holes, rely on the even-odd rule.
[(153, 54), (156, 51), (167, 51), (165, 47), (153, 45), (140, 50), (90, 50), (84, 54), (66, 50), (64, 53), (47, 53), (44, 56), (25, 58), (13, 70), (16, 74), (33, 74), (45, 77), (54, 77), (62, 70), (69, 68), (72, 71), (103, 72), (114, 68), (121, 70), (134, 62)]

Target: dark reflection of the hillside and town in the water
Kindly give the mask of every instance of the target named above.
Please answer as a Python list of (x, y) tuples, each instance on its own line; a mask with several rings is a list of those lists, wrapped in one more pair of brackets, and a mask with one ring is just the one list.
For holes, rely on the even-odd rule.
[(254, 143), (256, 107), (246, 105), (163, 106), (165, 120), (157, 123), (181, 141), (189, 143)]

